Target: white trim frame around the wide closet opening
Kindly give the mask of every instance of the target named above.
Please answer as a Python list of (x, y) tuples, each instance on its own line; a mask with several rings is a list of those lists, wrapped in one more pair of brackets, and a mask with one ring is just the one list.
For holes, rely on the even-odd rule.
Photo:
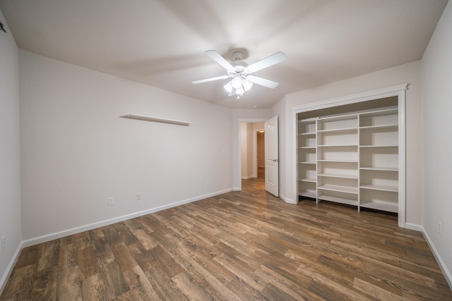
[(327, 109), (333, 106), (343, 106), (345, 104), (356, 104), (358, 102), (367, 102), (369, 100), (381, 99), (385, 97), (398, 97), (398, 153), (400, 154), (398, 158), (398, 226), (401, 228), (406, 228), (405, 226), (405, 91), (408, 90), (409, 84), (396, 85), (392, 87), (386, 87), (379, 90), (372, 90), (369, 92), (362, 92), (358, 94), (352, 94), (345, 97), (338, 97), (334, 99), (326, 99), (321, 102), (312, 102), (309, 104), (302, 104), (300, 106), (292, 107), (292, 141), (294, 147), (292, 147), (292, 177), (294, 180), (294, 196), (295, 204), (298, 203), (298, 177), (297, 177), (297, 113), (303, 113), (308, 111), (314, 111), (319, 109)]

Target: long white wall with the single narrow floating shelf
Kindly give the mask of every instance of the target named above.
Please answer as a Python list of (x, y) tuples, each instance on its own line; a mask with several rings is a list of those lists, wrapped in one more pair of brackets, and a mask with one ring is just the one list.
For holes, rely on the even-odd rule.
[(25, 245), (232, 190), (231, 109), (19, 53)]

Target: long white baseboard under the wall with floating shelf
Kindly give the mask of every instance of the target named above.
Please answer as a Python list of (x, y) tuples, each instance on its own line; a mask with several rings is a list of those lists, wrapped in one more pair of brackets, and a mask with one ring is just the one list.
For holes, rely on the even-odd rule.
[(126, 221), (128, 219), (134, 219), (134, 218), (136, 218), (138, 216), (143, 216), (143, 215), (146, 215), (146, 214), (151, 214), (151, 213), (154, 213), (154, 212), (157, 212), (157, 211), (162, 211), (162, 210), (169, 209), (169, 208), (172, 208), (172, 207), (177, 207), (177, 206), (180, 206), (180, 205), (183, 205), (183, 204), (196, 202), (196, 201), (198, 201), (200, 199), (206, 199), (208, 197), (215, 197), (215, 195), (222, 195), (223, 193), (230, 192), (230, 191), (232, 191), (231, 188), (226, 189), (226, 190), (220, 190), (218, 192), (209, 193), (208, 195), (200, 195), (198, 197), (193, 197), (191, 199), (183, 199), (182, 201), (174, 202), (174, 203), (171, 203), (171, 204), (166, 204), (164, 206), (150, 208), (150, 209), (146, 209), (146, 210), (143, 210), (143, 211), (138, 211), (138, 212), (135, 212), (135, 213), (132, 213), (132, 214), (126, 214), (126, 215), (123, 215), (123, 216), (118, 216), (118, 217), (115, 217), (113, 219), (107, 219), (105, 221), (97, 221), (95, 223), (90, 223), (88, 225), (79, 226), (79, 227), (67, 229), (67, 230), (64, 230), (64, 231), (59, 231), (59, 232), (55, 232), (55, 233), (42, 235), (42, 236), (39, 236), (37, 238), (30, 238), (28, 240), (23, 240), (22, 247), (30, 247), (32, 245), (37, 245), (37, 244), (42, 243), (42, 242), (47, 242), (47, 241), (50, 241), (50, 240), (56, 240), (56, 239), (59, 239), (59, 238), (64, 238), (65, 236), (68, 236), (68, 235), (73, 235), (73, 234), (76, 234), (76, 233), (81, 233), (81, 232), (84, 232), (84, 231), (93, 230), (95, 228), (108, 226), (108, 225), (111, 225), (112, 223), (119, 223), (121, 221)]

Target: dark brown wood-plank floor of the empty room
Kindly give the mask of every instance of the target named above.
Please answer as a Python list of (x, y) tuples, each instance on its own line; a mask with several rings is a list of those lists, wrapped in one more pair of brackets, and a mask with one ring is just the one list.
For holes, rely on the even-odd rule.
[(395, 216), (242, 188), (27, 247), (0, 300), (452, 300)]

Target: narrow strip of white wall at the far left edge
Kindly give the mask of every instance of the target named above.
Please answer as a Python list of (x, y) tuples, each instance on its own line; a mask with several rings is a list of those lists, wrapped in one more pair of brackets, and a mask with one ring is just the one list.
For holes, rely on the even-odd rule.
[(20, 223), (19, 61), (18, 48), (8, 33), (0, 32), (0, 293), (22, 240)]

